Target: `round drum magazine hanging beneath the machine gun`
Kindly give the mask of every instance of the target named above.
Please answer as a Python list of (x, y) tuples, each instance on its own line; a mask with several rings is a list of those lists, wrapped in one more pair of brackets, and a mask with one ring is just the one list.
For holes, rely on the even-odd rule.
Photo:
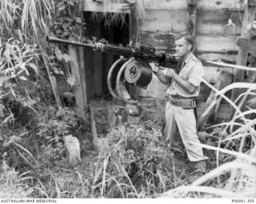
[(124, 78), (131, 85), (146, 88), (151, 82), (152, 70), (146, 62), (133, 61), (126, 66)]

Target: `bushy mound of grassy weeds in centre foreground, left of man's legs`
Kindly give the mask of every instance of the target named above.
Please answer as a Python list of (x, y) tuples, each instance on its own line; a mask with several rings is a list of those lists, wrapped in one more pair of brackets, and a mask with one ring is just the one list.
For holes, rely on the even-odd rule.
[[(116, 126), (106, 142), (99, 143), (94, 189), (102, 197), (154, 197), (173, 185), (169, 173), (172, 154), (161, 141), (160, 127), (152, 122), (147, 126), (150, 128), (145, 128), (146, 124)], [(181, 174), (179, 170), (177, 173)]]

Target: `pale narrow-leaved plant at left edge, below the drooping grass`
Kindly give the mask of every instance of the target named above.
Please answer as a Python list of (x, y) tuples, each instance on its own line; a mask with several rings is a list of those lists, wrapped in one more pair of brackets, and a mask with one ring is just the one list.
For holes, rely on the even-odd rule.
[(18, 118), (25, 107), (34, 110), (39, 98), (31, 98), (30, 90), (23, 86), (26, 83), (31, 85), (39, 75), (38, 50), (34, 45), (10, 38), (0, 46), (0, 60), (1, 118), (6, 118), (4, 124), (11, 118)]

